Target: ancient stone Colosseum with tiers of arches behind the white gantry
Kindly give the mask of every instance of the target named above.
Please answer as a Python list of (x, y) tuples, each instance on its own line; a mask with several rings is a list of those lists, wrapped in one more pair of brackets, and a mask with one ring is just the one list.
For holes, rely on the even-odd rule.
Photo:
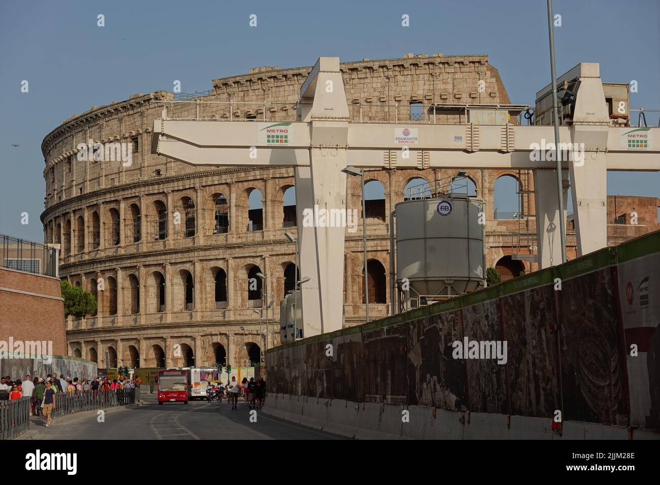
[[(133, 94), (66, 119), (42, 143), (46, 161), (44, 239), (61, 248), (60, 274), (94, 294), (98, 309), (67, 319), (72, 356), (105, 367), (246, 366), (279, 343), (279, 302), (294, 288), (293, 168), (193, 167), (150, 153), (153, 120), (170, 116), (292, 121), (311, 67), (256, 67), (213, 80), (207, 92)], [(353, 121), (460, 123), (441, 105), (510, 105), (487, 55), (414, 55), (341, 64)], [(515, 113), (514, 113), (515, 114)], [(519, 122), (515, 116), (512, 123)], [(80, 156), (79, 144), (120, 143), (129, 163)], [(96, 153), (94, 152), (94, 155)], [(525, 238), (535, 234), (531, 173), (465, 170), (471, 195), (488, 211), (486, 263), (503, 279), (533, 271)], [(525, 172), (525, 171), (523, 171)], [(368, 170), (366, 227), (370, 315), (389, 311), (389, 213), (411, 187), (455, 176), (451, 170)], [(517, 212), (497, 212), (496, 181), (512, 177)], [(361, 214), (359, 178), (348, 178), (347, 207)], [(413, 189), (414, 190), (414, 189)], [(609, 237), (617, 243), (656, 230), (658, 199), (610, 197)], [(626, 214), (639, 212), (638, 224)], [(362, 215), (360, 215), (361, 217)], [(623, 219), (622, 219), (623, 217)], [(568, 257), (576, 254), (572, 221)], [(520, 236), (523, 234), (523, 236)], [(526, 249), (521, 250), (521, 238)], [(346, 233), (345, 325), (365, 319), (362, 220)], [(262, 279), (267, 276), (267, 288)], [(254, 284), (252, 282), (255, 282)], [(267, 296), (268, 298), (263, 298)], [(263, 299), (262, 299), (263, 298)], [(267, 301), (268, 300), (268, 301)], [(273, 307), (266, 309), (269, 302)], [(180, 352), (176, 352), (180, 350)]]

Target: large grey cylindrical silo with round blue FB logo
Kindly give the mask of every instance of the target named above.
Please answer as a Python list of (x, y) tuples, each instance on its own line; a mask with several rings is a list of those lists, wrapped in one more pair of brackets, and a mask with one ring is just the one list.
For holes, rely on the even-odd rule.
[(407, 309), (485, 286), (481, 199), (454, 193), (398, 203), (396, 235), (396, 281)]

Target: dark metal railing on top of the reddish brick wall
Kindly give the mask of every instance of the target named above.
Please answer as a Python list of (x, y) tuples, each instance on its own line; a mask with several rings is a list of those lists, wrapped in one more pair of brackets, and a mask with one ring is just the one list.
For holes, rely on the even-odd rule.
[(57, 277), (57, 249), (0, 234), (4, 268)]

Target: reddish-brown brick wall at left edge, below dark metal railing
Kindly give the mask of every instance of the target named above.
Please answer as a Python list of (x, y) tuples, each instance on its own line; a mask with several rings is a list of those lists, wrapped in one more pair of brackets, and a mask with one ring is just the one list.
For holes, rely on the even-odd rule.
[(59, 279), (0, 267), (0, 308), (0, 340), (51, 341), (53, 354), (66, 354)]

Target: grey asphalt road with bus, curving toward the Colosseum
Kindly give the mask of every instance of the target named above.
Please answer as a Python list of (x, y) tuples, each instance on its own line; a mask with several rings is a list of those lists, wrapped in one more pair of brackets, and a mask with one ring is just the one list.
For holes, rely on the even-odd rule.
[(158, 405), (156, 395), (142, 395), (142, 405), (106, 410), (104, 422), (97, 411), (70, 414), (51, 421), (33, 417), (30, 430), (16, 439), (342, 439), (273, 418), (257, 409), (250, 422), (248, 404), (238, 409), (223, 403), (191, 401)]

